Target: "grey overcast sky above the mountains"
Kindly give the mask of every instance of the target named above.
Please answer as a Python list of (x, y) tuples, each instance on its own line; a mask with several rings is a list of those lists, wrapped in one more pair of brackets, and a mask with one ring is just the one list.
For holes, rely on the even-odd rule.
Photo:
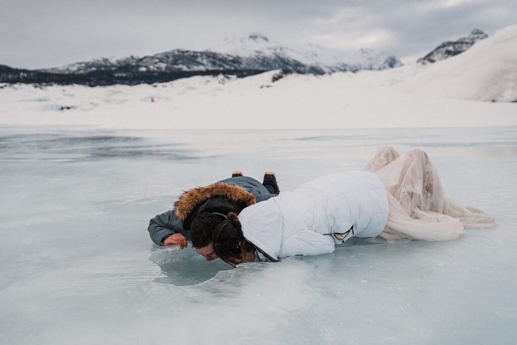
[(0, 64), (32, 69), (204, 50), (250, 33), (413, 61), (444, 40), (473, 28), (491, 35), (516, 18), (516, 0), (0, 0)]

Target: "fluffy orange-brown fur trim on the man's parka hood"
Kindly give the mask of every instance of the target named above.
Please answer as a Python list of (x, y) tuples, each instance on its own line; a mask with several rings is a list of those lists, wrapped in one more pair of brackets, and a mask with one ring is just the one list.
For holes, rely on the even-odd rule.
[(218, 183), (186, 191), (179, 197), (178, 201), (174, 203), (176, 216), (178, 216), (179, 220), (184, 221), (189, 213), (194, 211), (197, 205), (214, 197), (226, 197), (236, 203), (244, 203), (247, 206), (253, 205), (256, 202), (255, 196), (246, 191), (246, 189), (237, 185)]

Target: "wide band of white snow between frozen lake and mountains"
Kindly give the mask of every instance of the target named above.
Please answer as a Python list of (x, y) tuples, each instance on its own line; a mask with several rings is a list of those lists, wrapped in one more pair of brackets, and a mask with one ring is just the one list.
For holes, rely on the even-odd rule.
[(517, 125), (517, 25), (430, 65), (293, 74), (272, 82), (277, 72), (137, 86), (5, 86), (0, 124), (170, 129)]

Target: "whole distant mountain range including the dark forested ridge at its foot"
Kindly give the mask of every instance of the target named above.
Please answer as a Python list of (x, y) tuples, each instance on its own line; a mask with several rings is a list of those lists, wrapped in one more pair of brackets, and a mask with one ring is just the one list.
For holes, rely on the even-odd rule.
[(264, 36), (250, 35), (241, 39), (226, 39), (220, 46), (204, 51), (174, 49), (144, 57), (99, 58), (63, 67), (17, 70), (18, 77), (16, 72), (11, 71), (6, 78), (0, 74), (0, 82), (135, 85), (221, 73), (246, 77), (284, 69), (302, 74), (324, 74), (401, 65), (397, 57), (387, 53), (361, 50), (344, 54), (311, 44), (288, 47)]

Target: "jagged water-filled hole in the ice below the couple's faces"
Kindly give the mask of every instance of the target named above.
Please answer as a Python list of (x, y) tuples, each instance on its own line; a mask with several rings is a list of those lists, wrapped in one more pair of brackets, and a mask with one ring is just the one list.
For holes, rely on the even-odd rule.
[(165, 275), (155, 281), (175, 286), (199, 284), (231, 269), (219, 259), (205, 261), (193, 248), (160, 248), (151, 254), (149, 260), (160, 266)]

